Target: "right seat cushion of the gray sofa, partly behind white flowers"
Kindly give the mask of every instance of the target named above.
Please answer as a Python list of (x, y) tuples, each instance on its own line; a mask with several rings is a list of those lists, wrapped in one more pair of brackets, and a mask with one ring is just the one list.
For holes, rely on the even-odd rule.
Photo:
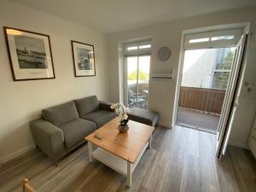
[(82, 118), (91, 120), (96, 123), (97, 128), (108, 123), (108, 121), (115, 118), (115, 113), (105, 110), (97, 110), (95, 112), (84, 115)]

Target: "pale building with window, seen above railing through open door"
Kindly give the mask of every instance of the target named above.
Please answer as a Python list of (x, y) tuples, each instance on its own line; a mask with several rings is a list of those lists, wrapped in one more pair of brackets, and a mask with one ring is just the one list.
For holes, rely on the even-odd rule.
[(226, 89), (235, 55), (233, 48), (186, 50), (183, 64), (182, 86)]

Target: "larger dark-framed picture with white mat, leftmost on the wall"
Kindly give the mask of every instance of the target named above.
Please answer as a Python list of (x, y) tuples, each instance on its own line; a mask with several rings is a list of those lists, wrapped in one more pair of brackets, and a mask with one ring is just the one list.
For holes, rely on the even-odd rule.
[(55, 79), (49, 35), (3, 27), (15, 81)]

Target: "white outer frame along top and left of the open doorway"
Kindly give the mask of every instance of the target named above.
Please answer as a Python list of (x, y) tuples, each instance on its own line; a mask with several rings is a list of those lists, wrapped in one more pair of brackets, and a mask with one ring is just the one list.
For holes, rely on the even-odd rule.
[[(212, 31), (220, 31), (220, 30), (230, 30), (235, 28), (241, 28), (243, 30), (243, 34), (246, 34), (249, 29), (249, 23), (235, 23), (235, 24), (227, 24), (227, 25), (220, 25), (220, 26), (207, 26), (207, 27), (201, 27), (196, 29), (189, 29), (189, 30), (183, 30), (182, 32), (182, 40), (181, 40), (181, 49), (180, 49), (180, 55), (179, 55), (179, 63), (177, 68), (177, 83), (176, 83), (176, 90), (175, 90), (175, 97), (174, 97), (174, 107), (173, 107), (173, 113), (172, 113), (172, 127), (177, 124), (177, 108), (179, 104), (179, 95), (180, 95), (180, 89), (182, 84), (182, 78), (183, 78), (183, 62), (184, 62), (184, 56), (185, 56), (185, 37), (187, 35), (192, 35), (195, 33), (200, 32), (212, 32)], [(213, 47), (212, 47), (213, 48)], [(237, 86), (238, 84), (236, 84)], [(232, 101), (228, 101), (232, 102)]]

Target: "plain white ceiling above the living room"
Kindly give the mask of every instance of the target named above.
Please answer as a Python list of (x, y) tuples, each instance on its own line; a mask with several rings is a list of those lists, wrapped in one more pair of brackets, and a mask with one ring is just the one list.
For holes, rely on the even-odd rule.
[(256, 5), (256, 0), (11, 0), (112, 33)]

